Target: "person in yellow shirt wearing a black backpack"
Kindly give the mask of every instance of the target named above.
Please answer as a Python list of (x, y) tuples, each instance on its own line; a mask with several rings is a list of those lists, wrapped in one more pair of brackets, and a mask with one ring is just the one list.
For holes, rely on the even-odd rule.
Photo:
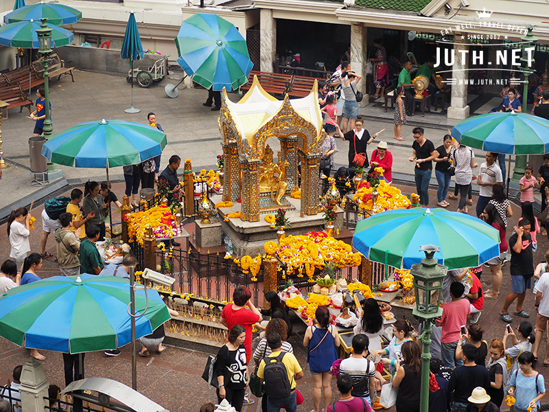
[[(267, 336), (267, 344), (272, 351), (268, 358), (277, 358), (279, 355), (282, 356), (281, 362), (286, 368), (288, 373), (288, 381), (290, 382), (290, 396), (286, 398), (275, 398), (270, 396), (269, 393), (272, 392), (272, 388), (269, 387), (269, 382), (265, 382), (265, 393), (267, 396), (267, 410), (268, 412), (277, 412), (280, 411), (282, 405), (284, 405), (287, 412), (296, 412), (296, 380), (303, 378), (303, 369), (299, 365), (294, 354), (289, 354), (288, 352), (281, 352), (282, 349), (282, 339), (277, 332), (272, 332)], [(272, 362), (272, 361), (271, 361)], [(262, 359), (259, 363), (259, 369), (257, 369), (257, 377), (264, 381), (264, 369), (265, 369), (265, 359)]]

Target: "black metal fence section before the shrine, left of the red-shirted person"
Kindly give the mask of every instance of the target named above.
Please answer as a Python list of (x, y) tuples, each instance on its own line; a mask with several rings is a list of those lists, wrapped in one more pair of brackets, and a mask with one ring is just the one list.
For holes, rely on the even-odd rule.
[(263, 264), (255, 282), (251, 273), (244, 273), (233, 258), (225, 259), (224, 255), (166, 249), (156, 252), (156, 264), (160, 264), (162, 273), (176, 279), (172, 286), (174, 292), (231, 301), (235, 288), (247, 286), (252, 292), (253, 304), (263, 304)]

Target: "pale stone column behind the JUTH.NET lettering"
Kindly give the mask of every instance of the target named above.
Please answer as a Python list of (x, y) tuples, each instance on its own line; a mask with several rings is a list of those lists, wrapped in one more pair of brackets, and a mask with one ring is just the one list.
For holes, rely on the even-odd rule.
[[(447, 111), (448, 119), (467, 119), (469, 106), (467, 106), (467, 84), (463, 80), (469, 77), (469, 45), (461, 38), (461, 34), (454, 35), (454, 65), (452, 66), (452, 78), (456, 84), (452, 84), (452, 102)], [(467, 51), (462, 53), (460, 51)], [(464, 61), (462, 61), (464, 60)]]

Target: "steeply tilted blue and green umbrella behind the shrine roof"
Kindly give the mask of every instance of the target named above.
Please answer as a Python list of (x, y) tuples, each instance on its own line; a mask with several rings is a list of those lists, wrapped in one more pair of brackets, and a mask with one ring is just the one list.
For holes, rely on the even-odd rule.
[(237, 89), (248, 82), (253, 63), (248, 45), (233, 23), (196, 13), (181, 23), (175, 39), (178, 64), (206, 89)]

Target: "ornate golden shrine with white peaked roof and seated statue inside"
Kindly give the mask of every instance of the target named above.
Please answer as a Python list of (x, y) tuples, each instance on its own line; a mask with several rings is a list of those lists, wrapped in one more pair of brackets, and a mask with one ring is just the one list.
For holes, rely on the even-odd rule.
[[(258, 222), (260, 214), (291, 209), (285, 197), (299, 185), (301, 163), (301, 216), (318, 213), (322, 115), (318, 83), (305, 98), (278, 100), (254, 76), (240, 102), (231, 102), (225, 90), (218, 119), (224, 153), (223, 201), (240, 198), (240, 218)], [(274, 153), (266, 142), (280, 141)]]

